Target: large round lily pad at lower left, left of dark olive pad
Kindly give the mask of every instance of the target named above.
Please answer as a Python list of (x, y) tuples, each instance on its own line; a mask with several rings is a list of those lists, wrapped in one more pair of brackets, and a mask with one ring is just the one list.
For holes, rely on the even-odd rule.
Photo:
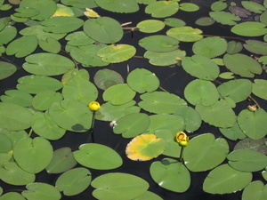
[(17, 164), (26, 172), (37, 173), (51, 162), (53, 147), (41, 137), (23, 138), (16, 142), (13, 156)]

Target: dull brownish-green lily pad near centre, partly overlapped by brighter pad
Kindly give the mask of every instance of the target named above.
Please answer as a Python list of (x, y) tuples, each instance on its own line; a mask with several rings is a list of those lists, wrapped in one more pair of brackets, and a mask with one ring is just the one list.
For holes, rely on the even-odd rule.
[(98, 88), (107, 90), (114, 84), (123, 84), (124, 78), (116, 71), (104, 68), (95, 73), (93, 76), (93, 82)]

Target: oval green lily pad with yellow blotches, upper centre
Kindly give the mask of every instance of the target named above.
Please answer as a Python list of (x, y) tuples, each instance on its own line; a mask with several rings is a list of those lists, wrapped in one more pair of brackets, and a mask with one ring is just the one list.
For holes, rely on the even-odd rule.
[(131, 59), (136, 52), (133, 45), (129, 44), (111, 44), (101, 48), (97, 55), (102, 61), (109, 63), (123, 62)]

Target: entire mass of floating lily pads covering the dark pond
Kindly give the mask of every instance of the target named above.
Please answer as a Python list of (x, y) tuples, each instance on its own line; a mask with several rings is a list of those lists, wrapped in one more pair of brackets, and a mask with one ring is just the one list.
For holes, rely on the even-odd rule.
[[(198, 27), (231, 26), (237, 37), (228, 38), (207, 36), (175, 17), (193, 15), (198, 2), (0, 0), (1, 12), (12, 6), (12, 14), (0, 18), (0, 79), (20, 70), (28, 75), (0, 96), (0, 180), (26, 189), (0, 188), (0, 200), (57, 200), (90, 186), (101, 200), (162, 199), (148, 190), (147, 180), (130, 173), (93, 177), (90, 169), (119, 169), (124, 163), (117, 151), (97, 140), (75, 151), (54, 149), (50, 140), (62, 140), (69, 132), (97, 134), (90, 131), (94, 120), (111, 122), (111, 134), (133, 139), (125, 147), (129, 159), (156, 158), (150, 176), (166, 190), (186, 192), (191, 172), (210, 171), (202, 185), (206, 193), (245, 188), (242, 200), (267, 197), (267, 113), (257, 101), (267, 100), (266, 0), (214, 1), (209, 16), (196, 21)], [(131, 24), (101, 16), (102, 10), (134, 13), (140, 6), (150, 20)], [(129, 30), (147, 34), (136, 44), (145, 50), (142, 59), (152, 66), (175, 65), (195, 78), (184, 88), (184, 99), (166, 92), (163, 80), (142, 66), (125, 79), (99, 68), (116, 63), (126, 68), (128, 60), (140, 59), (136, 46), (120, 44)], [(192, 45), (193, 54), (187, 55), (180, 43)], [(25, 60), (22, 68), (10, 58)], [(90, 76), (90, 68), (99, 70)], [(101, 108), (91, 110), (88, 104), (95, 100)], [(204, 123), (217, 127), (222, 137), (198, 132)], [(188, 133), (186, 147), (177, 143), (176, 132)], [(239, 141), (233, 149), (230, 140)], [(36, 182), (44, 171), (61, 175), (54, 185)], [(253, 180), (253, 172), (262, 172), (263, 179)]]

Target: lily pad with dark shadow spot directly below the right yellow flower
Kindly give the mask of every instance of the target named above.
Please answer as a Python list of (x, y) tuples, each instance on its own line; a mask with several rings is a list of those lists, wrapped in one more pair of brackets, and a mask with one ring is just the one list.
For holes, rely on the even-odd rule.
[(174, 192), (185, 192), (190, 187), (190, 172), (172, 158), (164, 158), (150, 165), (152, 179), (162, 188)]

